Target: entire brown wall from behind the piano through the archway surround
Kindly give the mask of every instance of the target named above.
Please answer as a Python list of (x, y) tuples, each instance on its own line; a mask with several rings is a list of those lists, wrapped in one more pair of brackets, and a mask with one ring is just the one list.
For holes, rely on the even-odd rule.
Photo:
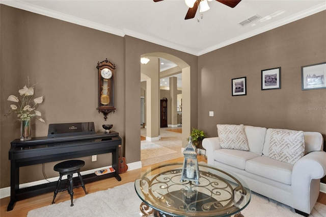
[[(127, 163), (140, 161), (140, 56), (148, 52), (174, 55), (192, 68), (192, 92), (197, 99), (197, 57), (129, 36), (119, 37), (65, 21), (0, 5), (1, 66), (0, 66), (0, 133), (1, 186), (10, 185), (10, 142), (20, 135), (15, 115), (4, 117), (10, 108), (7, 98), (18, 87), (38, 83), (36, 95), (44, 95), (39, 106), (46, 124), (34, 121), (32, 137), (46, 137), (48, 124), (95, 122), (102, 131), (104, 119), (97, 107), (96, 64), (108, 58), (116, 64), (115, 114), (106, 123), (114, 124), (122, 138)], [(192, 101), (194, 107), (197, 100)], [(197, 125), (197, 107), (191, 117)], [(83, 170), (107, 166), (111, 154), (98, 155), (97, 161), (84, 157)], [(45, 164), (47, 177), (58, 176), (55, 162)], [(42, 165), (21, 169), (20, 182), (44, 179)]]

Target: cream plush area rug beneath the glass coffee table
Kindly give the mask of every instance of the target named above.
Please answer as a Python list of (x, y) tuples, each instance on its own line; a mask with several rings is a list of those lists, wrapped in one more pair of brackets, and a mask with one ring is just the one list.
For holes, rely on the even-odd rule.
[[(139, 217), (141, 199), (134, 190), (134, 183), (109, 188), (74, 199), (74, 206), (70, 207), (70, 200), (44, 206), (29, 211), (28, 217), (54, 216), (107, 216), (107, 217)], [(246, 217), (300, 217), (294, 209), (253, 193), (249, 205), (241, 211)], [(325, 217), (326, 205), (316, 203), (310, 216)]]

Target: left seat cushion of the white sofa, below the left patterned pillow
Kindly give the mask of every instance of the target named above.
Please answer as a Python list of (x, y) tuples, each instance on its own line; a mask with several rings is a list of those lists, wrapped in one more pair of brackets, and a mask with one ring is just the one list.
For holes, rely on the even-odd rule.
[(250, 151), (241, 151), (234, 149), (219, 149), (214, 151), (214, 159), (223, 162), (232, 167), (244, 170), (246, 168), (246, 161), (259, 157), (259, 154)]

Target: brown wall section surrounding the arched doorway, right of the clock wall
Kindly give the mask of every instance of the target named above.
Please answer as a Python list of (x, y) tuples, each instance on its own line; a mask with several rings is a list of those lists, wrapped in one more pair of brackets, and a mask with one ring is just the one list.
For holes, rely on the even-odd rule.
[[(141, 88), (141, 75), (140, 75), (140, 56), (145, 53), (161, 52), (169, 53), (175, 57), (180, 58), (191, 67), (191, 95), (194, 99), (191, 100), (193, 113), (191, 114), (192, 126), (197, 126), (197, 60), (198, 57), (189, 55), (187, 53), (174, 50), (168, 47), (152, 44), (144, 40), (125, 36), (125, 143), (128, 146), (128, 152), (126, 152), (126, 159), (134, 159), (135, 155), (138, 155), (140, 160), (140, 94)], [(138, 90), (138, 91), (135, 91)], [(135, 128), (137, 126), (138, 128)], [(190, 132), (189, 132), (190, 133)], [(132, 160), (131, 162), (136, 161)]]

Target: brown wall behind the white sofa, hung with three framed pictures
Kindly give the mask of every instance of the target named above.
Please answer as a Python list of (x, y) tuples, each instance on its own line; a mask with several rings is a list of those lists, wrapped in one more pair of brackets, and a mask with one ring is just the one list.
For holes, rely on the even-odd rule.
[[(326, 89), (301, 89), (301, 66), (321, 62), (326, 11), (200, 56), (198, 127), (208, 137), (217, 136), (216, 124), (244, 124), (318, 131), (326, 140)], [(261, 70), (275, 67), (281, 89), (262, 91)], [(244, 76), (247, 95), (232, 96), (231, 79)]]

